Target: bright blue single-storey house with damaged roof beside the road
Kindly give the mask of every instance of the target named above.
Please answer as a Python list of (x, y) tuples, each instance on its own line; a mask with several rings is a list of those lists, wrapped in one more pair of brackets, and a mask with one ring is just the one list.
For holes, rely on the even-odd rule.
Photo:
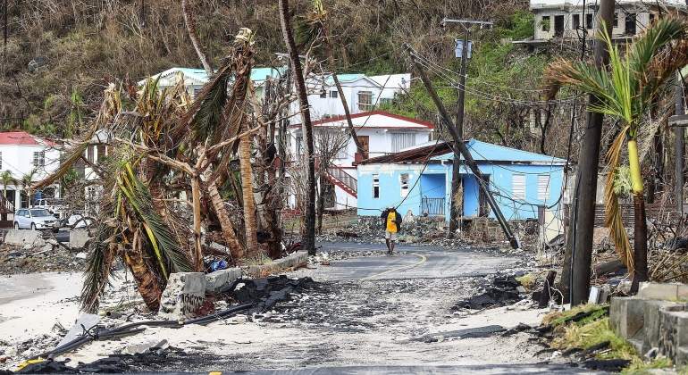
[[(499, 209), (508, 220), (536, 219), (554, 209), (563, 194), (566, 160), (476, 139), (466, 141)], [(454, 154), (447, 142), (432, 143), (359, 162), (358, 215), (379, 215), (389, 206), (449, 221)], [(494, 218), (477, 177), (460, 162), (463, 217)]]

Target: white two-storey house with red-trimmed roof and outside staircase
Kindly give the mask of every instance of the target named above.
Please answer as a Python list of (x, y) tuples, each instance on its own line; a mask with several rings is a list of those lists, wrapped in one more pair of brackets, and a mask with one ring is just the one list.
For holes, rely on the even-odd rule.
[[(315, 154), (319, 154), (318, 139), (323, 134), (339, 134), (342, 146), (326, 171), (326, 177), (333, 187), (333, 200), (327, 207), (345, 209), (357, 206), (357, 167), (354, 162), (385, 154), (397, 153), (407, 147), (420, 145), (432, 139), (434, 126), (428, 121), (419, 121), (396, 114), (374, 111), (359, 112), (351, 115), (357, 138), (364, 149), (357, 153), (354, 140), (349, 136), (346, 117), (335, 116), (314, 121)], [(289, 126), (290, 151), (301, 155), (304, 151), (303, 135), (300, 124)], [(339, 148), (339, 147), (338, 147)], [(289, 204), (296, 203), (294, 197)]]

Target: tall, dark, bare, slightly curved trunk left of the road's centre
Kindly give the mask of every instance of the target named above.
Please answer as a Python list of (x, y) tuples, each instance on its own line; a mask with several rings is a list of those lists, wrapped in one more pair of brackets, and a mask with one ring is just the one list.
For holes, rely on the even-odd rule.
[(303, 238), (303, 246), (308, 251), (308, 254), (315, 255), (315, 147), (313, 141), (313, 124), (311, 123), (311, 112), (308, 107), (308, 95), (306, 93), (304, 72), (301, 68), (301, 61), (298, 57), (298, 50), (296, 42), (294, 41), (294, 33), (291, 28), (291, 21), (289, 19), (288, 0), (280, 0), (280, 22), (282, 35), (284, 37), (284, 44), (287, 46), (287, 50), (289, 52), (292, 76), (296, 82), (298, 104), (301, 112), (301, 129), (304, 134), (304, 141), (306, 142), (305, 158), (307, 162), (307, 177), (306, 212), (304, 212), (306, 236)]

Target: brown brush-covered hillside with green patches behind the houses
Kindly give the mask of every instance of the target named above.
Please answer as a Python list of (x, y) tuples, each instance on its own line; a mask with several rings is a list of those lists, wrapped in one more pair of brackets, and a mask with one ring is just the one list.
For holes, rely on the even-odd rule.
[[(256, 31), (256, 64), (275, 63), (274, 54), (284, 51), (275, 2), (197, 0), (191, 4), (201, 44), (215, 65), (239, 27)], [(474, 136), (533, 151), (559, 148), (540, 150), (537, 138), (525, 129), (531, 112), (543, 110), (540, 104), (530, 103), (538, 100), (537, 92), (495, 91), (541, 84), (538, 79), (548, 57), (508, 43), (510, 38), (533, 32), (532, 17), (525, 12), (527, 2), (332, 0), (324, 5), (338, 41), (339, 71), (409, 71), (401, 48), (405, 42), (437, 66), (457, 71), (453, 46), (461, 30), (440, 27), (441, 19), (495, 21), (495, 29), (474, 34), (476, 52), (468, 80), (472, 88), (466, 96), (468, 133), (475, 129)], [(308, 6), (306, 1), (293, 2), (295, 19)], [(0, 79), (0, 124), (4, 129), (28, 129), (55, 137), (76, 131), (78, 123), (94, 112), (108, 82), (126, 85), (171, 66), (200, 65), (184, 27), (180, 2), (174, 0), (85, 0), (80, 5), (66, 0), (10, 1), (8, 35)], [(446, 77), (437, 83), (445, 87), (440, 88), (440, 96), (453, 108), (456, 89), (447, 87)], [(502, 97), (522, 102), (505, 103)], [(436, 120), (419, 86), (387, 109)]]

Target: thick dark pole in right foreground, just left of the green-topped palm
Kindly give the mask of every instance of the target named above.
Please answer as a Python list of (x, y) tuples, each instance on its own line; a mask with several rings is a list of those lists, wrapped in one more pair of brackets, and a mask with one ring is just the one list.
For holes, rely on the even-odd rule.
[[(614, 19), (614, 0), (601, 0), (598, 11), (598, 29), (607, 28), (611, 35)], [(609, 54), (604, 41), (595, 40), (595, 66), (607, 65)], [(596, 96), (588, 98), (588, 105), (600, 102)], [(583, 134), (578, 174), (576, 176), (576, 204), (574, 247), (571, 260), (571, 305), (588, 301), (592, 265), (592, 234), (595, 226), (595, 203), (597, 196), (598, 165), (600, 164), (600, 140), (602, 136), (601, 113), (588, 111), (587, 126)]]

